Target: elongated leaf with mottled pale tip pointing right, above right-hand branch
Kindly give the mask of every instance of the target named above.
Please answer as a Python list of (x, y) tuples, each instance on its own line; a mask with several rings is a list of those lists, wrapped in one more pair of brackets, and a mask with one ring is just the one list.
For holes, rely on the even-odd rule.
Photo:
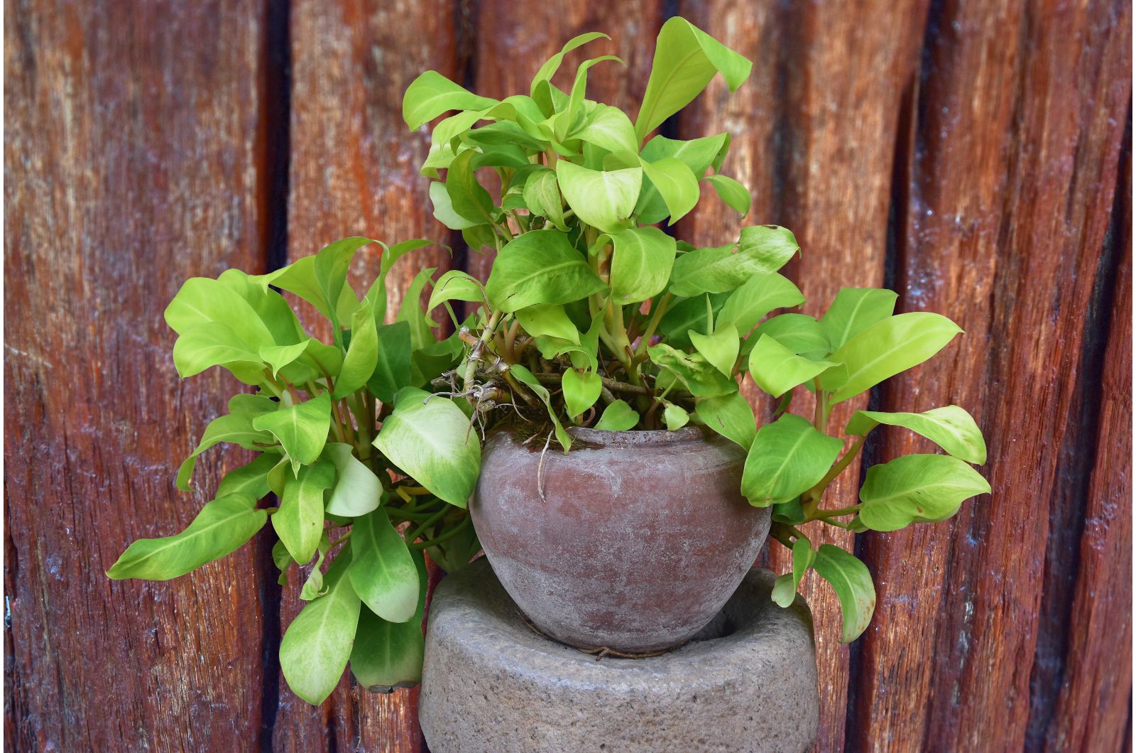
[(743, 227), (734, 246), (699, 248), (675, 259), (670, 292), (696, 296), (735, 290), (755, 274), (771, 274), (797, 250), (793, 233), (776, 225)]

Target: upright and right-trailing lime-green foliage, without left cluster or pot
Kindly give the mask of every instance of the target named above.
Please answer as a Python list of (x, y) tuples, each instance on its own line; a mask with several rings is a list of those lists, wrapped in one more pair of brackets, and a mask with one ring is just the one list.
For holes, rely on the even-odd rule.
[[(734, 91), (751, 64), (671, 18), (633, 121), (586, 97), (590, 69), (618, 58), (584, 61), (567, 90), (552, 83), (566, 53), (600, 38), (607, 39), (569, 41), (541, 66), (527, 94), (491, 99), (432, 71), (406, 92), (411, 130), (457, 111), (434, 125), (421, 168), (434, 216), (470, 248), (496, 251), (484, 286), (450, 271), (429, 298), (428, 311), (456, 300), (475, 308), (471, 325), (458, 331), (463, 354), (444, 391), (468, 402), (483, 427), (523, 419), (534, 433), (548, 433), (545, 446), (556, 437), (565, 452), (566, 425), (695, 423), (737, 442), (747, 454), (742, 493), (752, 505), (772, 507), (771, 536), (792, 551), (774, 601), (792, 603), (813, 568), (836, 590), (843, 640), (853, 640), (875, 605), (870, 573), (837, 546), (813, 547), (801, 527), (892, 531), (942, 521), (989, 486), (968, 465), (984, 463), (986, 449), (961, 407), (860, 411), (843, 427), (830, 424), (833, 408), (926, 361), (961, 330), (934, 313), (894, 314), (896, 295), (880, 289), (845, 288), (820, 318), (777, 313), (804, 303), (778, 273), (799, 251), (784, 227), (744, 226), (735, 242), (718, 247), (668, 234), (661, 223), (690, 213), (703, 187), (740, 216), (750, 209), (750, 191), (719, 172), (729, 134), (676, 140), (652, 132), (713, 76)], [(779, 400), (775, 420), (760, 429), (740, 392), (745, 379)], [(804, 391), (812, 407), (797, 415), (794, 395)], [(404, 412), (411, 421), (420, 398), (399, 396), (393, 417)], [(880, 424), (914, 431), (945, 454), (874, 465), (859, 503), (826, 506), (826, 490)], [(469, 461), (431, 452), (438, 439), (423, 433), (392, 442), (390, 457), (429, 488), (427, 478), (459, 472)]]

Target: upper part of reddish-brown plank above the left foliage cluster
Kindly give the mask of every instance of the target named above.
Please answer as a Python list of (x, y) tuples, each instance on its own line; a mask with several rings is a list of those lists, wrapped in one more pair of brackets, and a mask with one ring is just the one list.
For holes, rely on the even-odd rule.
[[(402, 93), (426, 69), (461, 80), (456, 20), (453, 3), (441, 0), (292, 3), (290, 260), (348, 235), (448, 242), (418, 175), (429, 133), (407, 129)], [(379, 254), (368, 246), (356, 257), (360, 295)], [(400, 262), (387, 282), (389, 318), (419, 267), (449, 263), (436, 246)]]

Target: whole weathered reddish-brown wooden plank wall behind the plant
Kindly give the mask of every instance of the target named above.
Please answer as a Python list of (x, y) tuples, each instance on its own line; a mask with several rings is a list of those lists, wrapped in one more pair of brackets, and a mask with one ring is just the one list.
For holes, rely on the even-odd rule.
[[(190, 275), (350, 234), (436, 237), (416, 174), (427, 136), (400, 117), (418, 72), (506, 94), (605, 31), (628, 68), (595, 68), (592, 93), (626, 106), (674, 13), (754, 69), (668, 132), (733, 132), (727, 169), (754, 191), (752, 221), (796, 232), (810, 313), (842, 286), (892, 286), (901, 309), (955, 318), (964, 338), (870, 402), (963, 405), (989, 442), (992, 496), (855, 541), (879, 588), (860, 642), (837, 643), (835, 598), (809, 581), (818, 750), (1127, 745), (1129, 3), (6, 0), (14, 750), (423, 750), (412, 690), (344, 681), (319, 709), (287, 692), (276, 649), (296, 599), (270, 541), (168, 584), (102, 574), (204, 502), (174, 470), (226, 384), (177, 381), (161, 311)], [(680, 231), (733, 238), (708, 205)], [(420, 260), (486, 270), (460, 250)], [(910, 444), (886, 435), (869, 458)]]

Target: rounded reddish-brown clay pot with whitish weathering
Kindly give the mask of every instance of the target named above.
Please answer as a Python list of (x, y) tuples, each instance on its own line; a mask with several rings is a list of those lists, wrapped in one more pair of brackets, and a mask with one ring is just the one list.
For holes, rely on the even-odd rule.
[(740, 491), (745, 453), (698, 427), (570, 432), (571, 452), (553, 442), (543, 466), (544, 437), (485, 442), (470, 512), (490, 564), (563, 643), (643, 653), (688, 640), (769, 532), (769, 508)]

